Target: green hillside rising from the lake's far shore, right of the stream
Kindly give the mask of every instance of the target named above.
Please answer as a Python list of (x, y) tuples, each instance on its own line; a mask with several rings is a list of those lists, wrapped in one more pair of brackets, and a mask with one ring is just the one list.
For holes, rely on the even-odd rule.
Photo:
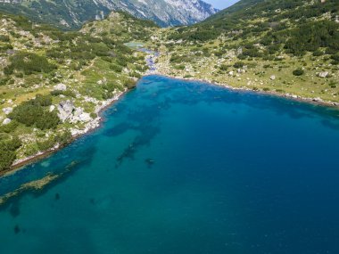
[(163, 73), (339, 101), (337, 0), (243, 0), (156, 37)]

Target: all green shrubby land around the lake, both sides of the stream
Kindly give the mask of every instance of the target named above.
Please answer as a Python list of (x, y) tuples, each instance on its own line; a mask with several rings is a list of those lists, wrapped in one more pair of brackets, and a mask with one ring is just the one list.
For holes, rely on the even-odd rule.
[(97, 127), (99, 111), (147, 70), (133, 45), (161, 53), (163, 75), (339, 103), (335, 0), (242, 0), (171, 29), (124, 12), (67, 32), (0, 20), (0, 171)]

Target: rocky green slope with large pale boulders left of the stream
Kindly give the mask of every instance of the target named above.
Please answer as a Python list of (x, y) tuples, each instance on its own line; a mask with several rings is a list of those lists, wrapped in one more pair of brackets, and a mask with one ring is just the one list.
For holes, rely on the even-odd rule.
[(147, 70), (145, 54), (124, 43), (157, 29), (122, 12), (71, 32), (13, 15), (0, 20), (0, 175), (13, 160), (98, 126), (98, 112)]

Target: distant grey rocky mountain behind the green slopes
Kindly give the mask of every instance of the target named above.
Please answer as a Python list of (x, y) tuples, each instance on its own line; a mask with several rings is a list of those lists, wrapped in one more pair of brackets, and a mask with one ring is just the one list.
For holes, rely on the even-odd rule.
[(77, 29), (87, 20), (102, 20), (112, 10), (161, 26), (192, 24), (217, 12), (202, 0), (0, 0), (0, 10), (68, 29)]

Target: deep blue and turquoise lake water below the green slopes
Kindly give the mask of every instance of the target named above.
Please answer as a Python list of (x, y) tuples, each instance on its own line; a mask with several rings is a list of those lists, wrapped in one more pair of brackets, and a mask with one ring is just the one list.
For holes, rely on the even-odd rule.
[(0, 253), (339, 253), (339, 113), (149, 76), (103, 127), (0, 179)]

